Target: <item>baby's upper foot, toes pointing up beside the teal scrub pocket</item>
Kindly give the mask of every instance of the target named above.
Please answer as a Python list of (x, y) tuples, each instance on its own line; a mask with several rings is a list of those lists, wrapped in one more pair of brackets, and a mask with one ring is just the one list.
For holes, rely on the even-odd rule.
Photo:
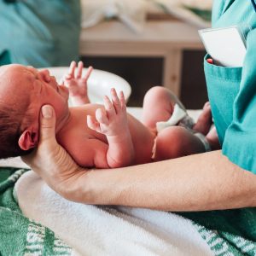
[(210, 102), (206, 102), (201, 115), (199, 116), (196, 124), (193, 127), (194, 131), (201, 132), (203, 135), (207, 135), (212, 126), (212, 111)]

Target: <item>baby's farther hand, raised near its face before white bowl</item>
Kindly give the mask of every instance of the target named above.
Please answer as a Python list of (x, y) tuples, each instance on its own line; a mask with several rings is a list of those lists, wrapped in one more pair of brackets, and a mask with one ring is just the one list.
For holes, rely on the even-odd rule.
[(88, 71), (83, 76), (83, 62), (79, 61), (77, 72), (75, 72), (76, 67), (77, 63), (72, 61), (68, 73), (64, 76), (63, 84), (67, 86), (70, 96), (73, 98), (74, 105), (80, 106), (90, 103), (87, 93), (87, 80), (89, 79), (93, 68), (89, 67)]

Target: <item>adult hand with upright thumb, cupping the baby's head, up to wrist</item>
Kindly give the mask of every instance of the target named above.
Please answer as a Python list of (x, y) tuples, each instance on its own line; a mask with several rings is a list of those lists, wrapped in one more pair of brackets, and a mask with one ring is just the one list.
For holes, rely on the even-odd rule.
[(45, 105), (41, 109), (38, 148), (32, 154), (23, 156), (22, 160), (57, 193), (76, 200), (73, 191), (79, 177), (86, 174), (86, 170), (80, 168), (56, 142), (55, 111), (51, 106)]

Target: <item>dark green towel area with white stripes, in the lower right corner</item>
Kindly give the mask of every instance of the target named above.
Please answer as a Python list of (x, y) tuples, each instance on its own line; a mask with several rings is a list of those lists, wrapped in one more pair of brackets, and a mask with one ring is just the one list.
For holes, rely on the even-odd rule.
[(256, 255), (255, 208), (179, 214), (194, 221), (214, 255)]

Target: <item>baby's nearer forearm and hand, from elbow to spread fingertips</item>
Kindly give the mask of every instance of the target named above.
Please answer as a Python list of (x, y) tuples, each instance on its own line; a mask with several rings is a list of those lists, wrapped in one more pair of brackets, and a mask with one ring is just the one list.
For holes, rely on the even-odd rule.
[(129, 166), (134, 161), (134, 148), (127, 122), (125, 96), (111, 90), (112, 102), (104, 97), (104, 107), (96, 110), (96, 118), (87, 117), (88, 127), (108, 139), (107, 161), (112, 168)]

